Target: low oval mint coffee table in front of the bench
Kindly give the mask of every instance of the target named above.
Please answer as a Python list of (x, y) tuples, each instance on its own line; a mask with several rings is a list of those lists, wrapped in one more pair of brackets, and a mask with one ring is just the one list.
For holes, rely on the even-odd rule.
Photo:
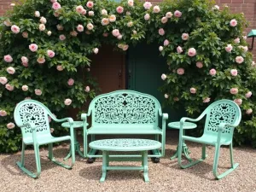
[[(90, 148), (102, 150), (102, 177), (100, 182), (104, 182), (108, 170), (143, 170), (144, 180), (148, 178), (148, 150), (161, 148), (161, 143), (149, 139), (102, 139), (89, 143)], [(109, 166), (109, 151), (141, 151), (142, 166)], [(127, 157), (127, 155), (124, 155)], [(129, 156), (128, 156), (129, 157)], [(119, 161), (123, 161), (119, 158)]]

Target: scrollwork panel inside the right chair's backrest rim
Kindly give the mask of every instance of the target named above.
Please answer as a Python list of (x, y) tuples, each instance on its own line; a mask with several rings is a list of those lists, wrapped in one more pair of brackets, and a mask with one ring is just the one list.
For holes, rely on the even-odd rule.
[[(209, 121), (207, 123), (207, 131), (218, 132), (220, 123), (234, 124), (236, 121), (236, 109), (229, 103), (220, 103), (212, 108)], [(230, 133), (230, 128), (225, 127), (223, 133)]]

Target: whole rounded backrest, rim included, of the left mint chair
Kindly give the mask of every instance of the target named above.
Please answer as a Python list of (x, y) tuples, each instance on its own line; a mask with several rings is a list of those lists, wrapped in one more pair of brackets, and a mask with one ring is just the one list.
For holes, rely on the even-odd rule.
[[(16, 125), (24, 125), (31, 122), (36, 125), (37, 136), (49, 136), (49, 109), (43, 103), (35, 100), (24, 100), (19, 102), (15, 108), (15, 123)], [(30, 127), (21, 128), (22, 137), (32, 137)]]

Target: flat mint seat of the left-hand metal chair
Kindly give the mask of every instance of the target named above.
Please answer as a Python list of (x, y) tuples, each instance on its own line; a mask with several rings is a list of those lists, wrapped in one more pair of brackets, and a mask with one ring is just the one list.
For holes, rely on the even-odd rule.
[[(39, 145), (44, 145), (44, 144), (47, 144), (47, 143), (55, 143), (55, 142), (62, 142), (62, 141), (70, 140), (71, 137), (70, 136), (52, 137), (51, 135), (47, 135), (47, 136), (44, 136), (44, 137), (39, 137), (38, 136), (37, 139), (38, 139), (38, 144)], [(33, 144), (32, 137), (25, 137), (23, 139), (23, 142), (26, 145)]]

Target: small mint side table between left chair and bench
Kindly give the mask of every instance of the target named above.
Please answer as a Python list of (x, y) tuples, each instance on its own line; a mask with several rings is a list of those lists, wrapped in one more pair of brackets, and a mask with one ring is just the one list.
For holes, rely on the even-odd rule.
[[(62, 123), (61, 126), (66, 127), (66, 128), (70, 128), (69, 123)], [(73, 122), (73, 128), (74, 128), (74, 132), (73, 132), (73, 137), (74, 137), (74, 148), (75, 148), (75, 152), (78, 152), (78, 154), (84, 158), (84, 154), (82, 151), (80, 151), (80, 144), (77, 140), (77, 128), (83, 128), (83, 121), (74, 121)], [(64, 160), (67, 160), (68, 158), (71, 157), (71, 150), (69, 150), (69, 153), (67, 154), (67, 156), (64, 158)]]

